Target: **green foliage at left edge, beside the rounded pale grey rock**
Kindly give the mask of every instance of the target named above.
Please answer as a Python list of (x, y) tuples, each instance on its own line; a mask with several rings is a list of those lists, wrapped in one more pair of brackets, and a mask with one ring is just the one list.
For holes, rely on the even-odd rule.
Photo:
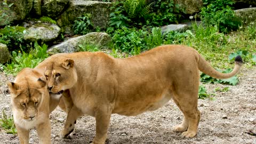
[(0, 42), (6, 44), (10, 51), (17, 50), (20, 44), (25, 44), (24, 30), (25, 28), (20, 26), (5, 26), (0, 29)]

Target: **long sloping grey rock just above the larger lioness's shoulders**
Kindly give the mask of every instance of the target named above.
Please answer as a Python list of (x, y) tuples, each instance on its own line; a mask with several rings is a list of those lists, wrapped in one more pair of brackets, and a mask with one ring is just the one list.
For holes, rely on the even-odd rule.
[(79, 45), (94, 44), (100, 48), (108, 46), (111, 41), (111, 37), (107, 33), (88, 33), (83, 36), (69, 38), (67, 41), (58, 45), (53, 45), (48, 50), (49, 54), (55, 53), (72, 53), (80, 50)]

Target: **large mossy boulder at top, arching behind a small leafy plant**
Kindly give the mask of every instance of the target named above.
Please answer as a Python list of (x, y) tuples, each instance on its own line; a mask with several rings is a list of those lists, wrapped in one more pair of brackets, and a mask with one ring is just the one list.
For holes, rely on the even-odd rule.
[(72, 34), (72, 27), (77, 17), (82, 17), (85, 13), (91, 13), (93, 25), (106, 28), (108, 26), (110, 6), (110, 2), (71, 0), (68, 9), (61, 14), (57, 23), (66, 34)]

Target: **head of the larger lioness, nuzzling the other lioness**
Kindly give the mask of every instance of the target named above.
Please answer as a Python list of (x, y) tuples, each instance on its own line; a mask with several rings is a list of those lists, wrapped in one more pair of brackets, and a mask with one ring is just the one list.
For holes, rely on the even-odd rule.
[(59, 57), (47, 65), (45, 70), (47, 87), (50, 93), (61, 94), (77, 82), (74, 60)]

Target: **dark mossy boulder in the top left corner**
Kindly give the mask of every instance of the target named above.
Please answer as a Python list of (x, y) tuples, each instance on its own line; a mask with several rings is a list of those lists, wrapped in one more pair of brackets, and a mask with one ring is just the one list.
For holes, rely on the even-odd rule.
[(6, 22), (25, 19), (33, 6), (33, 1), (34, 0), (7, 0), (6, 3), (4, 3), (3, 0), (0, 0), (0, 16), (5, 13), (4, 17), (1, 18), (0, 26), (6, 25)]

